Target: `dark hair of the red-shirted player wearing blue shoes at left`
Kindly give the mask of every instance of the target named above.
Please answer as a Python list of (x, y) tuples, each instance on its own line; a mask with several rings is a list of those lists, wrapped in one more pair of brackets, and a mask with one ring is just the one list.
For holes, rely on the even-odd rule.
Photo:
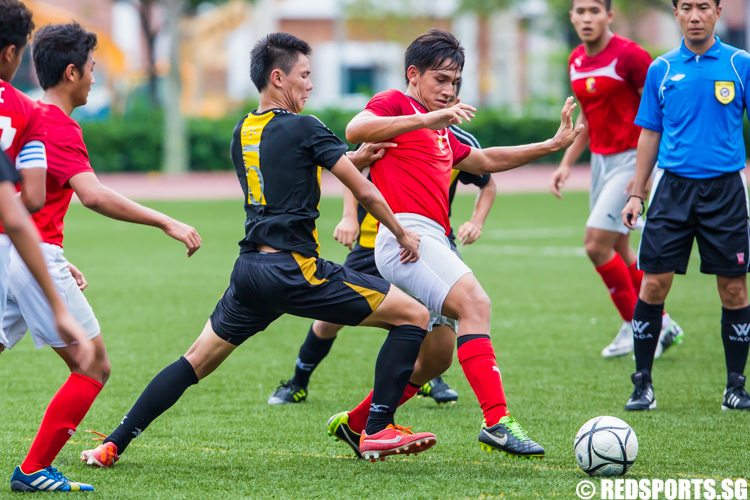
[(69, 65), (83, 74), (89, 54), (96, 49), (96, 34), (78, 23), (48, 24), (34, 35), (33, 57), (36, 76), (44, 90), (63, 79)]

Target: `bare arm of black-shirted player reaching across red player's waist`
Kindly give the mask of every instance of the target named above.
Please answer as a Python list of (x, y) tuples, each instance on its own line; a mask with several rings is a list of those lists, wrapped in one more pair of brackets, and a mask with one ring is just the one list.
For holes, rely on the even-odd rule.
[(416, 262), (419, 259), (419, 235), (404, 229), (372, 182), (362, 176), (346, 155), (336, 162), (331, 172), (351, 190), (367, 212), (393, 233), (402, 247), (401, 262)]

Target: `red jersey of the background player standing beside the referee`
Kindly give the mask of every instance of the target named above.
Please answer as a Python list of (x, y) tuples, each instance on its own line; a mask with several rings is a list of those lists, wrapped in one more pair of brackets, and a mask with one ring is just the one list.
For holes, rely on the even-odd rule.
[(648, 52), (618, 35), (593, 57), (583, 45), (570, 55), (570, 82), (589, 121), (591, 152), (610, 155), (638, 145), (635, 117), (650, 64)]

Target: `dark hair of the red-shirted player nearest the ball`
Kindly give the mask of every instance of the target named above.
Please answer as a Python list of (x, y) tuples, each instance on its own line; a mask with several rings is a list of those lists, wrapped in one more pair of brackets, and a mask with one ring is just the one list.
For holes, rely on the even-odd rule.
[(422, 74), (427, 70), (437, 70), (443, 67), (446, 61), (450, 65), (449, 70), (463, 71), (464, 48), (455, 36), (447, 31), (432, 28), (423, 35), (419, 35), (404, 56), (404, 77), (409, 83), (407, 72), (410, 66), (414, 66)]

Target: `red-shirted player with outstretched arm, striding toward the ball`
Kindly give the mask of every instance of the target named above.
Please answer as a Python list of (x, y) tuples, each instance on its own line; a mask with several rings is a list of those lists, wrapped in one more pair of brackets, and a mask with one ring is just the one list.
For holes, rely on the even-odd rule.
[[(500, 370), (490, 342), (491, 304), (471, 269), (451, 251), (448, 234), (449, 187), (455, 167), (474, 174), (520, 167), (570, 146), (583, 126), (574, 127), (572, 98), (565, 103), (562, 122), (553, 139), (509, 148), (475, 149), (459, 142), (450, 125), (471, 120), (475, 109), (460, 103), (448, 107), (461, 78), (464, 49), (450, 33), (432, 29), (407, 49), (406, 93), (388, 90), (372, 98), (365, 111), (348, 125), (350, 142), (392, 142), (396, 146), (370, 167), (396, 217), (420, 235), (421, 258), (401, 264), (398, 244), (382, 225), (375, 240), (375, 262), (380, 274), (419, 299), (431, 311), (432, 328), (425, 338), (410, 383), (416, 387), (440, 375), (453, 355), (458, 334), (458, 360), (484, 413), (479, 434), (483, 449), (501, 450), (526, 458), (543, 457), (544, 449), (532, 441), (508, 412)], [(459, 326), (460, 321), (460, 326)], [(449, 328), (445, 328), (448, 326)], [(404, 393), (403, 403), (416, 391)], [(372, 434), (380, 408), (365, 399), (349, 415), (369, 410), (360, 445)], [(344, 414), (337, 427), (348, 426)], [(362, 420), (357, 418), (356, 420)], [(329, 431), (332, 429), (329, 422)], [(338, 434), (338, 433), (336, 433)]]

